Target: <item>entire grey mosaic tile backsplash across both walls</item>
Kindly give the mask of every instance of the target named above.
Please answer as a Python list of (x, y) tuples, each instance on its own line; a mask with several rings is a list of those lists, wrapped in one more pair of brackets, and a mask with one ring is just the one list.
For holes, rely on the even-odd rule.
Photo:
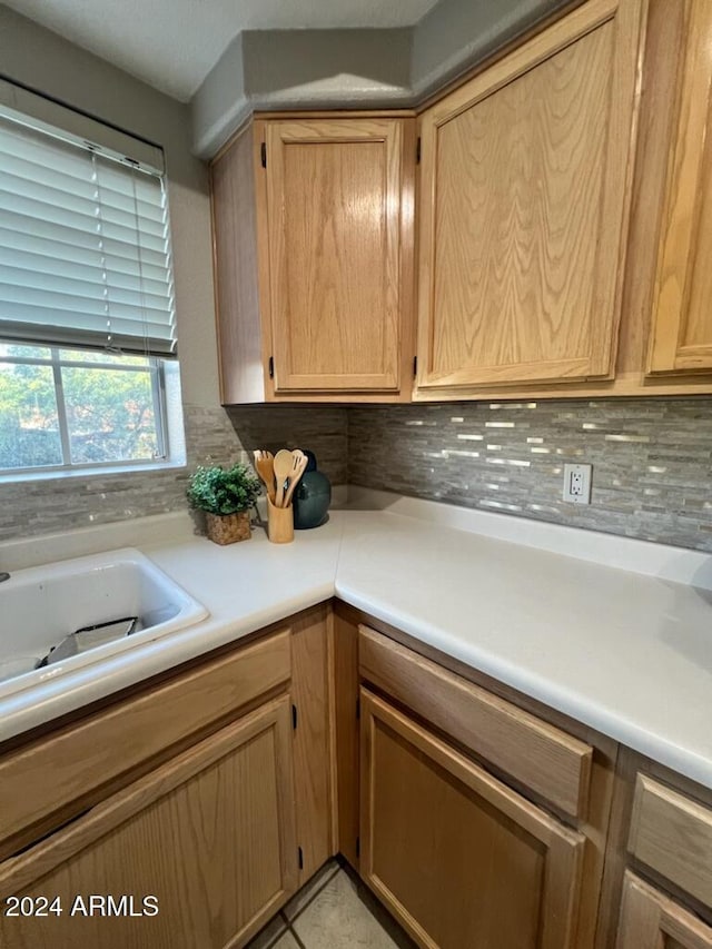
[[(0, 485), (0, 541), (182, 511), (197, 464), (298, 445), (334, 484), (712, 552), (712, 397), (184, 411), (187, 468)], [(565, 462), (593, 465), (590, 506)]]

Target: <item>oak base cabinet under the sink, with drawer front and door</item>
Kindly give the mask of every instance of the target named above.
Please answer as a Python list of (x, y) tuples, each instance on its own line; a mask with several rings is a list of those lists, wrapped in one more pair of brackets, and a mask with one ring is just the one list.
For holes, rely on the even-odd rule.
[(0, 945), (245, 945), (335, 853), (330, 629), (315, 606), (0, 750)]

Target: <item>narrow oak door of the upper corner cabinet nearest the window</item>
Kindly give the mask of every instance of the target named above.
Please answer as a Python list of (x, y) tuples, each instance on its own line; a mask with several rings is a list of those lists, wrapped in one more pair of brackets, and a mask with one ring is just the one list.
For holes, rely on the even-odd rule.
[(264, 129), (275, 393), (409, 388), (414, 120)]

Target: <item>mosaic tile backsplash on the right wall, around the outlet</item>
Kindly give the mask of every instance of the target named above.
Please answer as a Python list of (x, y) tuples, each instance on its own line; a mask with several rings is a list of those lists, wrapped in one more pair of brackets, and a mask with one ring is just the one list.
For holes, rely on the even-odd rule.
[[(565, 462), (593, 465), (590, 506)], [(712, 552), (712, 398), (352, 408), (348, 480)]]

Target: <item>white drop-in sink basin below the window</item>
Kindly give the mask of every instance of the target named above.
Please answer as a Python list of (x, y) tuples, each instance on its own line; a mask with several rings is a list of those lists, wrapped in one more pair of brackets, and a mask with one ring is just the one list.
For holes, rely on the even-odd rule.
[[(126, 548), (14, 572), (0, 584), (0, 696), (185, 629), (208, 611), (139, 551)], [(130, 635), (118, 620), (135, 617)], [(125, 624), (126, 629), (128, 624)], [(98, 627), (98, 629), (93, 629)], [(70, 634), (77, 654), (50, 659)], [(73, 643), (72, 643), (73, 646)]]

